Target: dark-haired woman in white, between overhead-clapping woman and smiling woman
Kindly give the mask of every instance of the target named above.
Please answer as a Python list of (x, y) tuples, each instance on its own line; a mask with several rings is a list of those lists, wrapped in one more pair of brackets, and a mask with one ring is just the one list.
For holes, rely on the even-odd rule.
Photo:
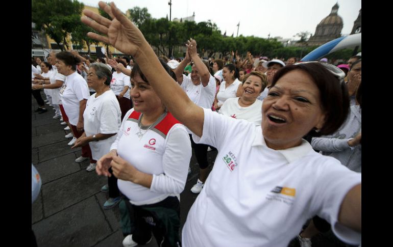
[(229, 98), (236, 97), (236, 91), (241, 85), (239, 78), (239, 71), (234, 64), (227, 64), (223, 68), (224, 81), (219, 85), (218, 93), (214, 100), (214, 108), (216, 111)]

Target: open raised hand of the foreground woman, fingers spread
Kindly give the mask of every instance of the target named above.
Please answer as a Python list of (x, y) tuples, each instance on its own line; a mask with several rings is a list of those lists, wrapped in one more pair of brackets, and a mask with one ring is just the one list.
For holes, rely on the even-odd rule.
[(121, 52), (130, 54), (133, 57), (138, 55), (141, 46), (149, 45), (140, 30), (116, 8), (114, 3), (108, 6), (105, 2), (100, 1), (99, 6), (109, 14), (112, 20), (108, 20), (90, 10), (84, 10), (83, 13), (86, 16), (81, 17), (82, 22), (103, 34), (99, 35), (89, 32), (87, 34), (88, 37), (111, 44)]

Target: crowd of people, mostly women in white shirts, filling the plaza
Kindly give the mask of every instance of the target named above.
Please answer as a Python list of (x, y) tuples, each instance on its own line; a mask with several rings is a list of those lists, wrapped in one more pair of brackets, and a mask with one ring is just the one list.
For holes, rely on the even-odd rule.
[[(361, 57), (338, 67), (249, 52), (204, 60), (189, 39), (184, 59), (158, 58), (113, 3), (99, 6), (112, 20), (85, 10), (82, 22), (104, 35), (88, 36), (131, 59), (32, 59), (32, 94), (44, 113), (46, 90), (68, 145), (82, 148), (75, 162), (108, 177), (103, 207), (130, 205), (125, 247), (153, 235), (159, 246), (287, 246), (296, 236), (311, 246), (329, 229), (360, 244)], [(180, 238), (192, 149), (199, 195)]]

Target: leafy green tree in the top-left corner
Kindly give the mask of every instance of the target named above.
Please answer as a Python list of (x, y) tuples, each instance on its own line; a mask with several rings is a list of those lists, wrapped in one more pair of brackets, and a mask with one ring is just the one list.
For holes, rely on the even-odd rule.
[(61, 50), (68, 49), (67, 36), (80, 22), (83, 8), (84, 4), (77, 0), (32, 0), (32, 22), (36, 30), (43, 30), (55, 40)]

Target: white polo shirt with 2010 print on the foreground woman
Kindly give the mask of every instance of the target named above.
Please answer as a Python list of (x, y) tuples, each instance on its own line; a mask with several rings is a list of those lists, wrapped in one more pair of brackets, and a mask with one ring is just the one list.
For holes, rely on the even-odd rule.
[(202, 138), (192, 137), (218, 154), (188, 212), (183, 246), (286, 247), (314, 215), (327, 219), (340, 239), (360, 243), (361, 234), (340, 226), (337, 218), (361, 174), (316, 153), (305, 140), (298, 147), (270, 149), (260, 126), (207, 109)]

